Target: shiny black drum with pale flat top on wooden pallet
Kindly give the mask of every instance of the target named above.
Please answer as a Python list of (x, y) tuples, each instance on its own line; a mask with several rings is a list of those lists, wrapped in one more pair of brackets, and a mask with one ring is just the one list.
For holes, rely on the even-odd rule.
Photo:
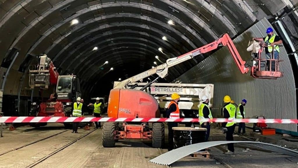
[(206, 128), (173, 127), (174, 149), (205, 142)]

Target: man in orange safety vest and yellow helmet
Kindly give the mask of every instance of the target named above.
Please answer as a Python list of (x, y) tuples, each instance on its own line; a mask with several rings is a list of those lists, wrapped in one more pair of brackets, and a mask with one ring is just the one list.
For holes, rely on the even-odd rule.
[[(172, 101), (170, 102), (167, 111), (166, 111), (166, 118), (171, 119), (179, 119), (180, 118), (180, 110), (178, 106), (178, 102), (180, 101), (180, 95), (177, 93), (173, 93), (171, 95)], [(178, 127), (178, 123), (175, 122), (168, 122), (168, 151), (173, 150), (174, 147), (174, 131), (173, 127)]]

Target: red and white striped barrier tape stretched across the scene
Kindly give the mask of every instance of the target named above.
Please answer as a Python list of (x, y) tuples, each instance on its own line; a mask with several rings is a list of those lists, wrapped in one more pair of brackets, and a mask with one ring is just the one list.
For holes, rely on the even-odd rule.
[(0, 117), (0, 123), (69, 123), (69, 122), (236, 122), (236, 123), (280, 123), (297, 124), (297, 119), (226, 119), (213, 118), (199, 120), (198, 118), (111, 118), (111, 117)]

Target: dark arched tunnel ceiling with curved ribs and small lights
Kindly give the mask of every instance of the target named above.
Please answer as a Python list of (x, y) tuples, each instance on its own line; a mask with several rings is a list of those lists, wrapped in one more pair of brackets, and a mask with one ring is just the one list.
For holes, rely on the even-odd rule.
[[(154, 61), (161, 64), (210, 43), (221, 34), (235, 37), (261, 15), (259, 4), (253, 0), (1, 2), (0, 61), (9, 62), (5, 56), (9, 49), (17, 48), (20, 52), (13, 69), (19, 70), (32, 56), (47, 54), (61, 74), (75, 73), (86, 88), (94, 84), (111, 87), (118, 78), (148, 70)], [(77, 24), (71, 24), (74, 19)], [(174, 25), (168, 24), (169, 20)], [(168, 40), (162, 40), (163, 36)], [(92, 51), (95, 46), (98, 49)], [(158, 51), (159, 47), (164, 54)], [(156, 55), (161, 62), (155, 59)], [(207, 55), (171, 68), (166, 79), (175, 79)], [(105, 61), (109, 63), (101, 70)], [(114, 71), (109, 72), (111, 67)]]

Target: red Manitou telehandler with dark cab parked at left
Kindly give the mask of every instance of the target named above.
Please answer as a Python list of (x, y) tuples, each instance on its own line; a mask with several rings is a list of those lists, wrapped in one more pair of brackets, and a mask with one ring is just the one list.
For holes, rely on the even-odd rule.
[[(54, 86), (53, 94), (40, 104), (32, 102), (30, 116), (69, 117), (72, 114), (73, 102), (81, 95), (80, 81), (75, 75), (61, 75), (57, 72), (47, 55), (39, 56), (38, 65), (29, 67), (29, 86), (39, 87), (40, 92)], [(42, 97), (42, 95), (41, 95)], [(31, 123), (31, 126), (44, 126), (46, 123)], [(69, 126), (68, 123), (64, 125)]]

